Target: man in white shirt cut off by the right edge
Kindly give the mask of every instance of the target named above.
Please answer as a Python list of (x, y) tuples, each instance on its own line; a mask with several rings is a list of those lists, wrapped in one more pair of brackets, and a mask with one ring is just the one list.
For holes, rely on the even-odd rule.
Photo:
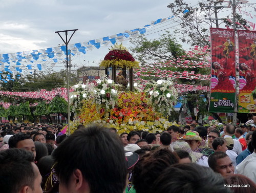
[(242, 174), (256, 183), (256, 131), (252, 133), (251, 144), (254, 152), (247, 156), (238, 166), (238, 174)]

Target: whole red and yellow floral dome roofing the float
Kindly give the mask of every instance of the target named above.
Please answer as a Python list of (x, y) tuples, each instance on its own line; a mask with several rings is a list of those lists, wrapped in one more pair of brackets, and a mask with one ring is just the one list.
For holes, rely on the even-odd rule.
[(130, 54), (125, 47), (121, 45), (115, 45), (110, 52), (105, 55), (104, 60), (100, 62), (101, 67), (116, 66), (123, 68), (138, 68), (139, 62), (135, 61), (132, 54)]

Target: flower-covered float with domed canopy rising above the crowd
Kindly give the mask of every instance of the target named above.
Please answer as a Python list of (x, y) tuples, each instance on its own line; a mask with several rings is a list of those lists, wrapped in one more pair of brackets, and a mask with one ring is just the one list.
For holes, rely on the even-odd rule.
[[(122, 45), (115, 46), (101, 62), (105, 68), (112, 66), (112, 78), (106, 75), (94, 82), (74, 85), (70, 106), (75, 119), (70, 124), (71, 133), (78, 125), (91, 123), (115, 127), (119, 134), (133, 130), (162, 132), (173, 125), (168, 121), (177, 100), (173, 81), (168, 78), (145, 85), (134, 83), (131, 69), (138, 68), (138, 64)], [(126, 84), (130, 91), (126, 91), (123, 82), (117, 83), (116, 67), (122, 68), (124, 78), (126, 67), (130, 69), (130, 85)]]

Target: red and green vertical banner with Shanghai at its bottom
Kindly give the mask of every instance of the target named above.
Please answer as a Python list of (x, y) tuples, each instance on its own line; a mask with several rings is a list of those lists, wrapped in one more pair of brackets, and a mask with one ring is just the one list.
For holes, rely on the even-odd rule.
[(211, 37), (211, 113), (232, 113), (236, 97), (234, 31), (210, 28)]

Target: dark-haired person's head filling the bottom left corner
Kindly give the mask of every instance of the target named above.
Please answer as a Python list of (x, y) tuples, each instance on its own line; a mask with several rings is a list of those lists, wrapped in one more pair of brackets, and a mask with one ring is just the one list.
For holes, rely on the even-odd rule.
[(10, 148), (1, 151), (1, 192), (42, 193), (41, 175), (33, 160), (34, 155), (24, 149)]

